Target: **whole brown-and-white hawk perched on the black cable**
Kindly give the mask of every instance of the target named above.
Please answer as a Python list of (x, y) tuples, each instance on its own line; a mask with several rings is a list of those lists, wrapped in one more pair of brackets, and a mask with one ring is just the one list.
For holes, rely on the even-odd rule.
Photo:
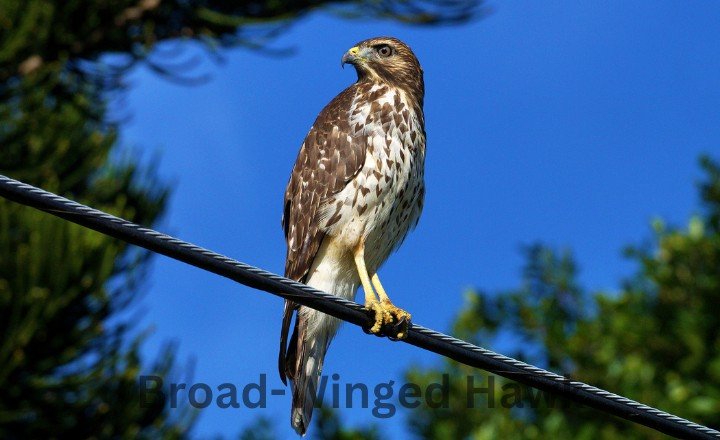
[[(320, 112), (300, 148), (285, 191), (285, 276), (352, 299), (358, 286), (377, 333), (389, 324), (407, 336), (410, 314), (390, 302), (378, 268), (400, 245), (423, 207), (423, 72), (402, 41), (379, 37), (345, 53), (356, 83)], [(295, 328), (288, 344), (293, 313)], [(310, 424), (325, 352), (339, 320), (285, 302), (279, 368), (292, 380), (291, 423)]]

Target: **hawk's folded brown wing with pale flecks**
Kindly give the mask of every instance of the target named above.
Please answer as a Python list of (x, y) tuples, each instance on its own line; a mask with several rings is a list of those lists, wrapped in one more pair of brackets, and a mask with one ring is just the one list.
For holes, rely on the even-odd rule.
[[(285, 276), (296, 281), (306, 281), (325, 237), (318, 221), (320, 205), (328, 196), (340, 192), (365, 162), (366, 139), (350, 136), (349, 120), (356, 93), (358, 86), (354, 84), (320, 112), (300, 148), (285, 190), (282, 219), (287, 242)], [(294, 359), (291, 359), (294, 358), (295, 344), (291, 343), (287, 359), (286, 350), (290, 321), (297, 308), (297, 304), (285, 302), (278, 358), (283, 382), (286, 374), (291, 378), (293, 376), (292, 371), (286, 370), (295, 367)], [(296, 322), (293, 339), (298, 337), (298, 329)]]

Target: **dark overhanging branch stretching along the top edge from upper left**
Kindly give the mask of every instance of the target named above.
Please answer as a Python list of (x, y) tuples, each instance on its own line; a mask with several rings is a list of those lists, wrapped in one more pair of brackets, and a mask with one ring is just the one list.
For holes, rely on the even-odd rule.
[[(173, 75), (178, 73), (173, 63), (148, 59), (159, 42), (183, 38), (211, 48), (261, 48), (290, 22), (320, 7), (331, 6), (346, 17), (437, 25), (468, 20), (480, 5), (481, 0), (2, 0), (0, 84), (49, 65), (109, 85), (109, 74), (117, 80), (138, 60)], [(122, 55), (121, 61), (87, 63), (108, 53)]]

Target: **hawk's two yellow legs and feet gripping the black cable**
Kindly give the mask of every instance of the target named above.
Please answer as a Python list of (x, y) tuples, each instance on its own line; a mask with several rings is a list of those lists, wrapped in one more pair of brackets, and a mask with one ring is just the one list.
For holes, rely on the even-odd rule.
[(364, 243), (361, 243), (355, 249), (353, 257), (358, 275), (360, 276), (360, 282), (365, 291), (365, 307), (375, 313), (375, 323), (370, 328), (370, 333), (379, 333), (383, 325), (390, 325), (397, 322), (400, 324), (400, 330), (397, 332), (396, 337), (398, 339), (406, 338), (410, 325), (410, 314), (390, 302), (390, 298), (388, 298), (385, 289), (382, 287), (382, 284), (380, 284), (380, 279), (377, 274), (374, 274), (372, 280), (370, 280), (367, 267), (365, 266)]

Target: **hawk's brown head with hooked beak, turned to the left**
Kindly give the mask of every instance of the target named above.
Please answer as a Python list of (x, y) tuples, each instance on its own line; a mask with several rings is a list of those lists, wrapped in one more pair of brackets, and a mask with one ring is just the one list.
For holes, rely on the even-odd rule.
[(424, 93), (420, 62), (410, 48), (392, 37), (361, 41), (342, 57), (342, 64), (352, 64), (358, 79), (381, 81), (407, 89), (421, 98)]

